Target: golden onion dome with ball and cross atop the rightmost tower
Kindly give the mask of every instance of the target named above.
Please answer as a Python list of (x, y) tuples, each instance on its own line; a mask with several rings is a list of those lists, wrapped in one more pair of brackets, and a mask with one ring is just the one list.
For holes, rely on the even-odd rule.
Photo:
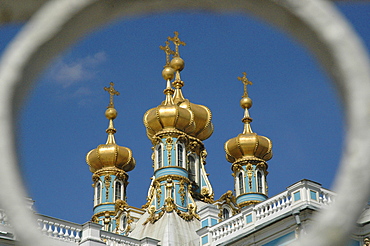
[(237, 137), (229, 139), (225, 143), (227, 161), (234, 163), (240, 160), (263, 160), (268, 161), (272, 158), (272, 142), (269, 138), (260, 136), (252, 131), (250, 123), (252, 118), (249, 116), (248, 109), (252, 107), (252, 99), (248, 97), (247, 84), (252, 84), (247, 78), (238, 77), (244, 83), (244, 95), (240, 100), (240, 106), (244, 109), (244, 131)]

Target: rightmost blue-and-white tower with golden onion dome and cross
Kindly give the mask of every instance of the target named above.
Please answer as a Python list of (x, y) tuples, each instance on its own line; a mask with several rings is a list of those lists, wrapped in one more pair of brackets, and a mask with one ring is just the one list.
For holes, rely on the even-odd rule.
[(271, 140), (252, 131), (252, 118), (248, 111), (252, 107), (252, 99), (247, 91), (247, 85), (252, 82), (247, 79), (246, 73), (243, 75), (238, 79), (244, 84), (244, 94), (240, 100), (240, 106), (244, 109), (244, 131), (225, 143), (226, 159), (232, 163), (236, 203), (240, 208), (267, 199), (267, 161), (272, 158)]

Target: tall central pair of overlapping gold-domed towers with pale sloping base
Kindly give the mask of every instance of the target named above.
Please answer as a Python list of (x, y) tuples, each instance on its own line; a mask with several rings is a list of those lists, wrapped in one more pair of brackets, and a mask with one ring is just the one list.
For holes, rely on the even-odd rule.
[[(170, 48), (169, 41), (175, 50)], [(143, 118), (153, 144), (154, 176), (144, 205), (147, 212), (138, 222), (143, 227), (136, 227), (131, 236), (157, 238), (163, 245), (186, 242), (198, 245), (197, 204), (213, 202), (213, 189), (204, 168), (207, 152), (202, 142), (213, 133), (212, 114), (207, 107), (191, 103), (182, 94), (184, 82), (180, 72), (185, 62), (179, 46), (185, 43), (175, 32), (165, 44), (160, 46), (166, 53), (162, 71), (165, 100), (148, 110)]]

